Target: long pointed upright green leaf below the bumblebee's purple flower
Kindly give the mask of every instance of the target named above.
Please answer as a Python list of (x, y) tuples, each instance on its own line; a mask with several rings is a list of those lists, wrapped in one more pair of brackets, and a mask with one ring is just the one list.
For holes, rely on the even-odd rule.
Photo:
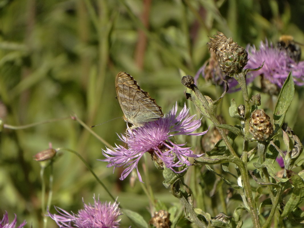
[(295, 94), (295, 85), (292, 79), (292, 74), (289, 73), (288, 77), (282, 87), (282, 90), (278, 97), (278, 102), (275, 106), (275, 111), (273, 113), (273, 118), (275, 122), (275, 132), (277, 132), (285, 118), (285, 114), (292, 102), (293, 96)]

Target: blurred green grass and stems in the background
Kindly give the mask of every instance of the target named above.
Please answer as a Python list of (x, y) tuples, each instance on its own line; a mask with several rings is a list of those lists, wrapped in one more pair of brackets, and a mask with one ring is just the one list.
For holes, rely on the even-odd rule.
[[(1, 0), (0, 117), (14, 126), (71, 114), (88, 126), (121, 117), (114, 86), (119, 71), (131, 74), (168, 112), (176, 101), (179, 105), (185, 102), (181, 77), (194, 76), (209, 58), (208, 36), (221, 31), (244, 47), (248, 43), (258, 46), (265, 38), (277, 42), (283, 34), (304, 43), (303, 15), (302, 0)], [(199, 84), (212, 98), (222, 93), (202, 78)], [(302, 140), (304, 121), (298, 118), (303, 110), (302, 89), (298, 91), (288, 112), (293, 115), (287, 120), (291, 127), (296, 123), (295, 134)], [(227, 96), (221, 110), (224, 117), (229, 116), (230, 99), (240, 99), (241, 93)], [(268, 99), (262, 94), (262, 101)], [(271, 109), (263, 103), (261, 108)], [(116, 132), (125, 129), (123, 119), (93, 128), (111, 145), (119, 143)], [(197, 153), (200, 143), (190, 143), (199, 140), (188, 140)], [(54, 148), (80, 153), (123, 207), (150, 219), (149, 199), (138, 181), (130, 186), (130, 177), (118, 179), (122, 169), (113, 174), (105, 162), (97, 161), (104, 158), (101, 149), (105, 145), (69, 118), (24, 130), (2, 130), (0, 215), (7, 211), (13, 219), (16, 213), (19, 222), (27, 220), (27, 227), (42, 227), (40, 164), (33, 156), (47, 149), (49, 142)], [(147, 164), (155, 198), (168, 205), (178, 202), (162, 185), (162, 172), (154, 168), (149, 156)], [(46, 169), (47, 183), (49, 172)], [(143, 180), (147, 182), (147, 177)], [(73, 212), (82, 208), (82, 198), (92, 202), (94, 193), (102, 201), (111, 200), (71, 153), (62, 154), (54, 163), (53, 191), (52, 205)], [(208, 212), (216, 215), (216, 211)], [(123, 217), (122, 227), (129, 225)], [(49, 221), (48, 226), (56, 224)]]

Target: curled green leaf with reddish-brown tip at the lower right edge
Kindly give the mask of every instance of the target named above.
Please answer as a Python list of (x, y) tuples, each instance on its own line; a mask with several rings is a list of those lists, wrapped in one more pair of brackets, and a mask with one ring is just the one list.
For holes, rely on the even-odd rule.
[(297, 206), (304, 199), (304, 180), (295, 172), (291, 170), (286, 170), (287, 177), (290, 178), (290, 183), (294, 186), (292, 189), (292, 194), (285, 204), (284, 210), (282, 212), (282, 218), (288, 216), (290, 212), (297, 208)]

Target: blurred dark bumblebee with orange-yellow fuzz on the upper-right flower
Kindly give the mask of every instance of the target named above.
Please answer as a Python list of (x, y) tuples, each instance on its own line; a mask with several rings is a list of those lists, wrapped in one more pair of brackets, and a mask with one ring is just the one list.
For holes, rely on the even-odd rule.
[(293, 40), (292, 36), (283, 35), (277, 44), (278, 49), (285, 50), (289, 57), (295, 62), (299, 62), (301, 58), (301, 47), (299, 43)]

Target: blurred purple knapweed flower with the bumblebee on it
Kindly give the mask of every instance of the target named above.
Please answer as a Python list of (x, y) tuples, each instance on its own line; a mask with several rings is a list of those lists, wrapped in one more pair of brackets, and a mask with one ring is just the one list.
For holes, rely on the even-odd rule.
[(247, 47), (248, 63), (246, 68), (264, 66), (258, 71), (250, 71), (247, 78), (253, 81), (259, 75), (262, 75), (269, 82), (282, 88), (288, 74), (292, 71), (293, 80), (296, 85), (304, 85), (304, 61), (295, 62), (288, 56), (285, 50), (274, 47), (272, 43), (261, 42), (259, 49), (254, 45)]

